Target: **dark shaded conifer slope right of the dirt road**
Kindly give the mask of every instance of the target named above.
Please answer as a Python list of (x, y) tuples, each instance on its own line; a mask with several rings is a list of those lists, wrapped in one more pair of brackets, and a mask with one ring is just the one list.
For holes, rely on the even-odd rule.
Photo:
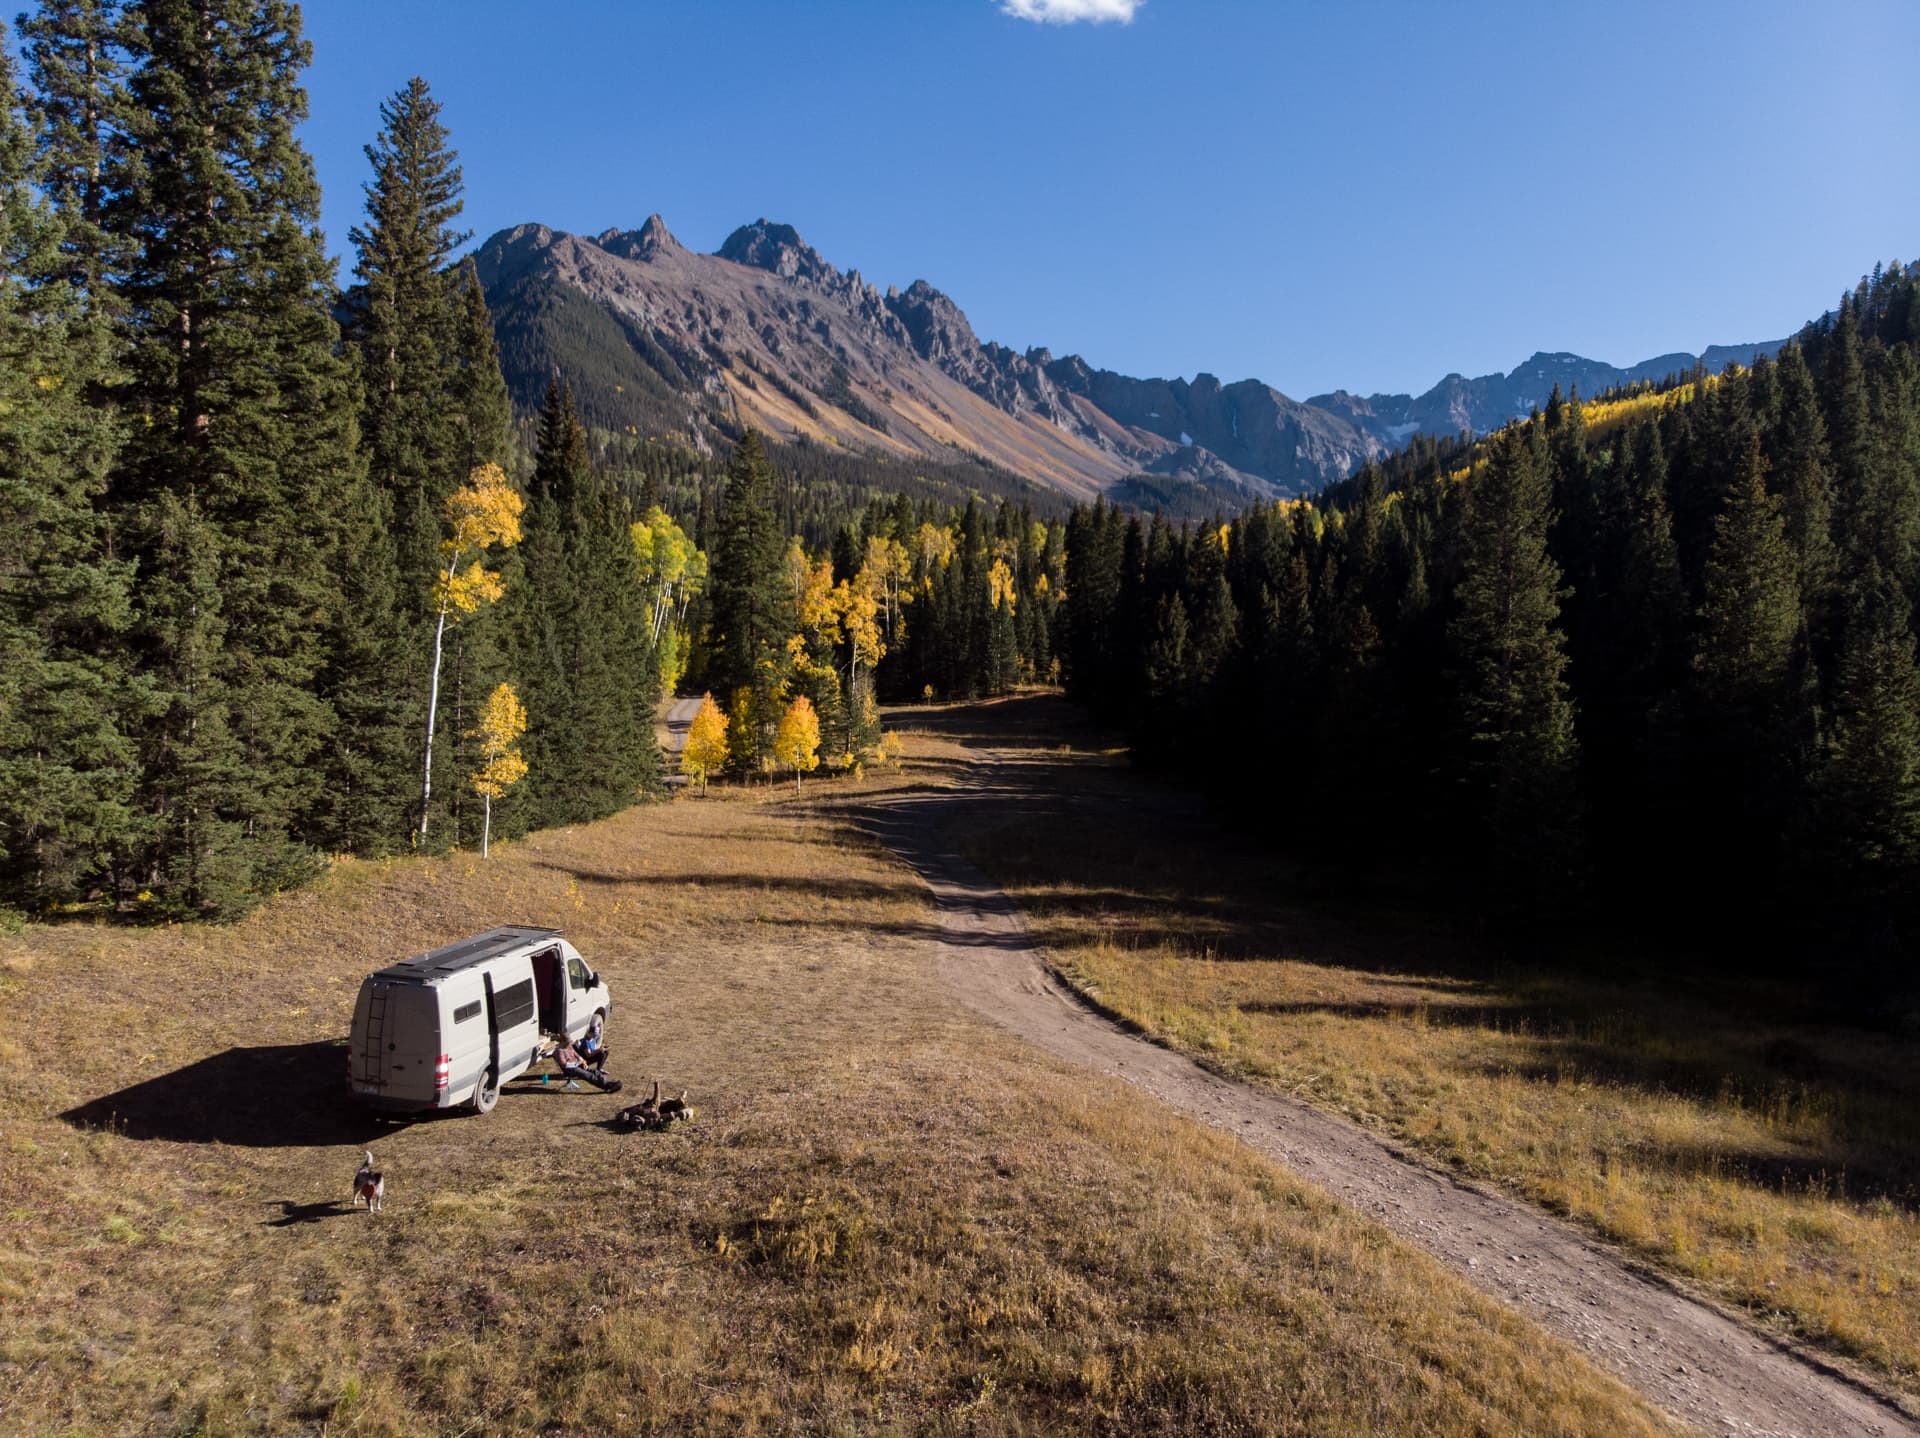
[(1910, 952), (1916, 344), (1893, 265), (1778, 361), (1555, 394), (1327, 507), (1081, 509), (1069, 687), (1288, 845), (1482, 914)]

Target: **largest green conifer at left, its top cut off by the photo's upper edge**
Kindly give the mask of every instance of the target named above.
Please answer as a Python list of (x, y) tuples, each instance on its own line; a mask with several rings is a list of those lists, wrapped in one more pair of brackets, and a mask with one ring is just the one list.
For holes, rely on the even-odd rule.
[(104, 207), (140, 417), (113, 488), (163, 705), (142, 735), (142, 866), (171, 906), (232, 914), (313, 864), (357, 397), (294, 134), (300, 12), (148, 0), (142, 21)]

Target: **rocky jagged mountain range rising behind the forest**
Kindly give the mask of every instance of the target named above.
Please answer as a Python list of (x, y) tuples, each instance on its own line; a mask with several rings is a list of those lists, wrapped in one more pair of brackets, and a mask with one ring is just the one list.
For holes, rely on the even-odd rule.
[[(1290, 399), (1260, 380), (1131, 378), (1079, 355), (975, 336), (925, 280), (839, 271), (789, 225), (755, 221), (718, 253), (655, 215), (637, 230), (501, 230), (476, 252), (515, 401), (561, 372), (589, 426), (710, 449), (745, 426), (876, 459), (979, 457), (1073, 497), (1146, 484), (1223, 501), (1302, 495), (1415, 434), (1475, 434), (1563, 392), (1599, 394), (1784, 342), (1711, 346), (1628, 369), (1536, 353), (1509, 374), (1448, 374), (1421, 395)], [(1162, 476), (1164, 484), (1152, 478)]]

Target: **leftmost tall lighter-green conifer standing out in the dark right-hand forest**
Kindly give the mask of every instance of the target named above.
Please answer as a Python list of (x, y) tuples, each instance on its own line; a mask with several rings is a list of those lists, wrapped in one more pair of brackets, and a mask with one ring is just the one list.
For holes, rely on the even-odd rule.
[(1467, 488), (1457, 612), (1448, 626), (1480, 875), (1496, 902), (1536, 904), (1574, 872), (1572, 703), (1559, 634), (1561, 574), (1548, 557), (1542, 426), (1505, 430)]

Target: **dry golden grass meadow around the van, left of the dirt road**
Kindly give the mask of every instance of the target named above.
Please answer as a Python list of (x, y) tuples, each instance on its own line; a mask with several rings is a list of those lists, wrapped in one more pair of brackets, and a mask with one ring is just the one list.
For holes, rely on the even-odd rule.
[[(954, 760), (344, 862), (227, 929), (0, 939), (0, 1432), (1667, 1430), (1244, 1146), (958, 1012), (918, 883), (837, 808)], [(359, 979), (497, 922), (609, 975), (628, 1094), (348, 1108)], [(609, 1131), (653, 1075), (697, 1119)], [(346, 1202), (365, 1144), (380, 1217)]]

